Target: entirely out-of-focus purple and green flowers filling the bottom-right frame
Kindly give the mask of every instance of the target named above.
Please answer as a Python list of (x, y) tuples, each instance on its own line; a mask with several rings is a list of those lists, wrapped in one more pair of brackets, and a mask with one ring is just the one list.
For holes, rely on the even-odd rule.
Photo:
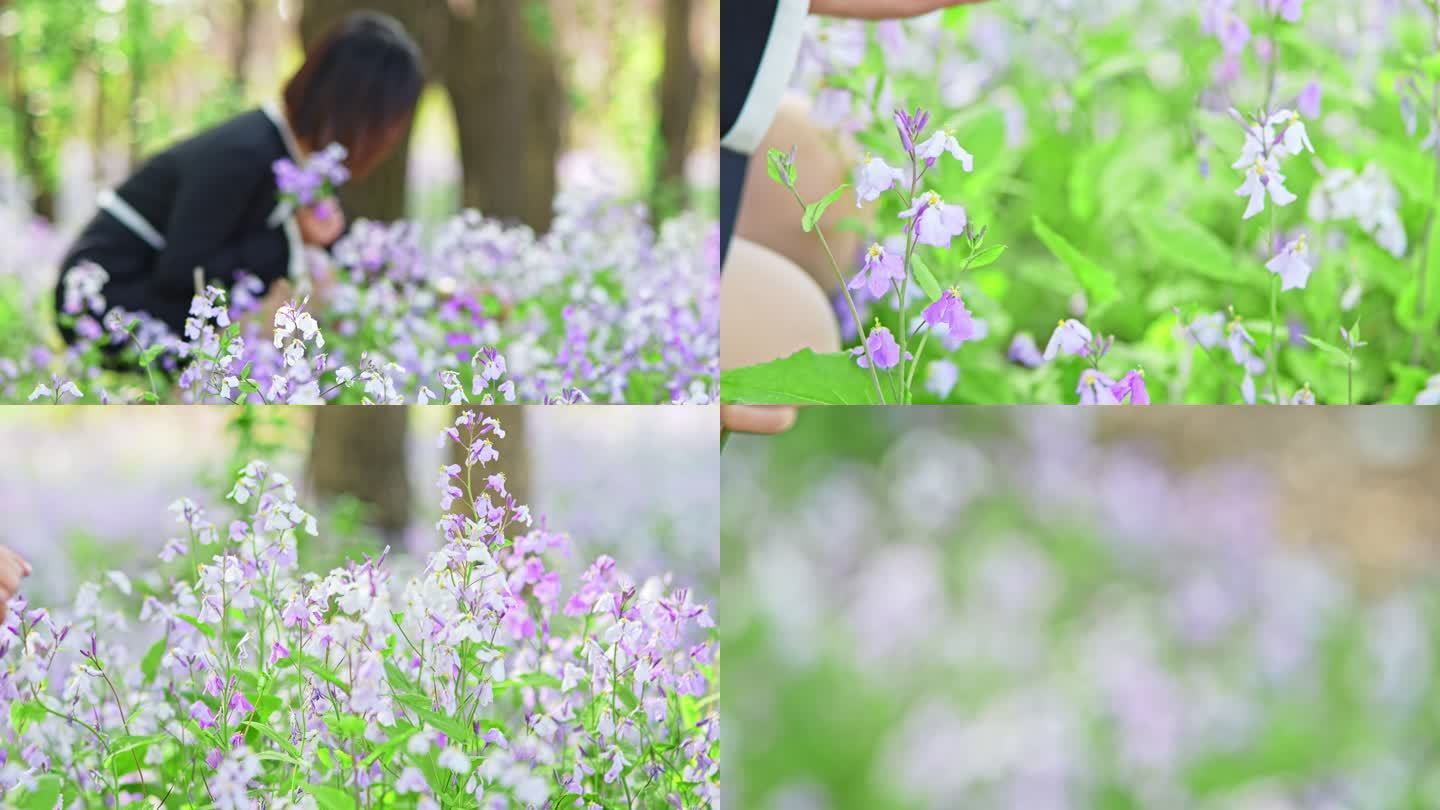
[(730, 442), (726, 806), (1440, 804), (1437, 438), (832, 408)]

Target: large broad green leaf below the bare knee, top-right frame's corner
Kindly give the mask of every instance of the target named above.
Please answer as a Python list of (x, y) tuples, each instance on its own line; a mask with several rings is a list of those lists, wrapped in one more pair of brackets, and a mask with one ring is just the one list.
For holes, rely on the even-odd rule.
[(850, 352), (789, 357), (720, 372), (720, 399), (730, 405), (881, 405), (874, 379)]

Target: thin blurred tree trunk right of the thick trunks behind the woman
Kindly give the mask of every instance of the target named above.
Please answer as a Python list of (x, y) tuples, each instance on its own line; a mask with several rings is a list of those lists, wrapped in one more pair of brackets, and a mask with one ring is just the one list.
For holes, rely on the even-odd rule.
[(665, 62), (660, 76), (660, 121), (655, 133), (654, 189), (651, 209), (662, 212), (685, 206), (685, 159), (691, 150), (691, 125), (700, 98), (700, 62), (691, 48), (694, 0), (665, 0)]

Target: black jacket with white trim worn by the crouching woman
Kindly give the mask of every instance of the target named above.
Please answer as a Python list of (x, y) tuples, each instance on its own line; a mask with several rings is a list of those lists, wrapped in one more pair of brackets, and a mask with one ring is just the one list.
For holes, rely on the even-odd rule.
[(108, 307), (144, 311), (180, 331), (194, 295), (194, 271), (229, 287), (246, 271), (266, 287), (287, 275), (291, 238), (274, 223), (272, 164), (289, 157), (287, 135), (262, 110), (245, 112), (151, 157), (115, 195), (163, 238), (157, 249), (114, 213), (99, 210), (60, 265), (92, 261), (109, 274)]

